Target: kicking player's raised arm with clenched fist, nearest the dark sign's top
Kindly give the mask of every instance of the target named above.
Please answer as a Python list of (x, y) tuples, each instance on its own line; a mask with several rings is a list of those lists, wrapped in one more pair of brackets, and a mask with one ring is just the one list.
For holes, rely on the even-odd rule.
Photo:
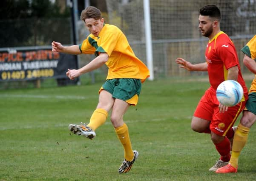
[(55, 42), (55, 41), (52, 42), (52, 51), (68, 53), (68, 54), (73, 54), (73, 55), (81, 54), (81, 51), (80, 51), (78, 45), (63, 46), (60, 42)]

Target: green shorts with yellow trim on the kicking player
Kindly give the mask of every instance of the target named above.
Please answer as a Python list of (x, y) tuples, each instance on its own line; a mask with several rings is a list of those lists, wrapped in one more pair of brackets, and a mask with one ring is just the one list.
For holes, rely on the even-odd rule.
[(112, 94), (114, 98), (136, 105), (141, 92), (141, 80), (136, 78), (107, 79), (99, 92), (101, 92), (102, 89)]

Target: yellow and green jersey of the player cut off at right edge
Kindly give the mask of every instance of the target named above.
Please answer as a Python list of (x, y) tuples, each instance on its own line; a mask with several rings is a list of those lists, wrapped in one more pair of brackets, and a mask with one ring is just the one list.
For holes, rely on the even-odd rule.
[[(254, 61), (256, 61), (256, 35), (253, 36), (253, 38), (250, 39), (250, 41), (242, 48), (242, 52)], [(250, 92), (256, 92), (256, 75), (250, 86), (249, 93)]]

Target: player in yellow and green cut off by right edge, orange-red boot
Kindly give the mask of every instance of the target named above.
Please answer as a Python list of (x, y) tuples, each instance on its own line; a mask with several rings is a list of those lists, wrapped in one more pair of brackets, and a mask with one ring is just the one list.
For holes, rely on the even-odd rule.
[[(256, 35), (242, 48), (244, 55), (244, 65), (256, 74)], [(229, 164), (216, 170), (216, 173), (236, 173), (238, 168), (238, 158), (244, 148), (250, 127), (256, 121), (256, 75), (249, 90), (249, 99), (245, 105), (243, 116), (237, 127), (233, 139), (233, 148)]]

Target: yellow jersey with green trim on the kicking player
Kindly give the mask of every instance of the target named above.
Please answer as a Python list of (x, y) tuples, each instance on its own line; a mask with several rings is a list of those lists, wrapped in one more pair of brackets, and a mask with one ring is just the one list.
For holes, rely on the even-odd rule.
[(133, 53), (124, 33), (114, 25), (104, 24), (98, 37), (90, 34), (79, 48), (85, 54), (109, 55), (106, 79), (138, 78), (144, 82), (150, 76), (146, 65)]

